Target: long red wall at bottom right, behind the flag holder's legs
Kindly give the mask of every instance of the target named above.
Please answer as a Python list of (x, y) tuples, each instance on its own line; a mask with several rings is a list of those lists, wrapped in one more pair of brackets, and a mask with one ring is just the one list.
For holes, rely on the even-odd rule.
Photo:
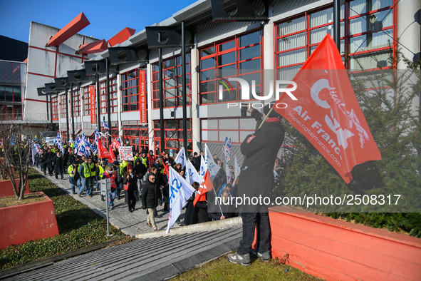
[(288, 265), (326, 280), (420, 280), (421, 239), (291, 211), (269, 213), (272, 255)]

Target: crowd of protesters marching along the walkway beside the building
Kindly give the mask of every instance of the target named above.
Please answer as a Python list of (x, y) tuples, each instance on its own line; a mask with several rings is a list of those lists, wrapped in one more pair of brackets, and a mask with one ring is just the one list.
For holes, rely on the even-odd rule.
[[(157, 207), (162, 206), (162, 212), (170, 211), (170, 192), (168, 185), (168, 176), (165, 172), (166, 168), (174, 168), (185, 178), (185, 168), (180, 163), (175, 163), (174, 158), (170, 157), (166, 150), (160, 155), (155, 155), (152, 150), (147, 152), (145, 148), (135, 150), (133, 145), (133, 160), (118, 161), (113, 163), (107, 159), (98, 159), (98, 155), (93, 157), (80, 156), (75, 153), (73, 143), (64, 143), (63, 151), (57, 145), (48, 145), (44, 143), (40, 152), (35, 155), (35, 165), (41, 168), (44, 175), (55, 176), (58, 179), (60, 175), (63, 180), (63, 174), (68, 173), (71, 190), (78, 197), (85, 196), (92, 198), (100, 195), (101, 200), (105, 200), (105, 195), (95, 193), (100, 191), (100, 180), (110, 179), (110, 193), (108, 194), (108, 205), (110, 210), (114, 209), (115, 200), (120, 200), (124, 191), (125, 203), (128, 204), (128, 210), (132, 213), (135, 210), (137, 201), (141, 201), (142, 208), (147, 212), (147, 225), (157, 230), (155, 218), (161, 217), (157, 214)], [(118, 149), (113, 148), (115, 158), (118, 159)], [(203, 155), (203, 152), (200, 152)], [(201, 157), (194, 153), (190, 158), (194, 168), (200, 169)], [(227, 183), (227, 176), (222, 168), (222, 161), (218, 156), (214, 155), (214, 161), (221, 169), (214, 179), (214, 194), (227, 200), (228, 197), (235, 196), (235, 188), (232, 183)], [(230, 173), (234, 178), (234, 173), (230, 166)], [(207, 201), (198, 202), (193, 205), (194, 197), (199, 188), (199, 183), (192, 183), (196, 192), (189, 198), (184, 206), (184, 225), (192, 225), (195, 223), (204, 223), (209, 220), (220, 220), (231, 218), (237, 213), (224, 212), (222, 207), (214, 208), (213, 212), (208, 213)]]

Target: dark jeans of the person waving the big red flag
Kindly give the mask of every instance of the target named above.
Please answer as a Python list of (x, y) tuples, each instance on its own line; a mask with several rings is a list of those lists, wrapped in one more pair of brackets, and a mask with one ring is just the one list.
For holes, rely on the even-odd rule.
[(254, 240), (254, 228), (257, 225), (257, 247), (258, 252), (264, 253), (271, 247), (271, 226), (268, 213), (241, 213), (243, 220), (243, 239), (237, 249), (239, 255), (246, 255), (251, 252), (251, 244)]

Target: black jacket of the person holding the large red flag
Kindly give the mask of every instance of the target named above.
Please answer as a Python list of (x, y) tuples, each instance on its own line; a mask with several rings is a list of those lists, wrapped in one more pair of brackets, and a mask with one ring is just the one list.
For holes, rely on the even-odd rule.
[[(284, 142), (284, 135), (284, 127), (279, 119), (270, 118), (260, 129), (246, 136), (241, 143), (241, 153), (246, 158), (239, 175), (239, 196), (269, 197), (274, 185), (275, 160)], [(244, 205), (243, 212), (264, 211), (264, 208), (266, 206)]]

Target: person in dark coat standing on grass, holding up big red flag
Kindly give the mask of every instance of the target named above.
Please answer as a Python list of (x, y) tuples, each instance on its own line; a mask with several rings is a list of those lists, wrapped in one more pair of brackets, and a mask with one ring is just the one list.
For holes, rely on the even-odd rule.
[[(269, 113), (271, 104), (264, 106), (264, 118)], [(272, 111), (261, 128), (246, 136), (241, 143), (241, 153), (245, 156), (243, 169), (239, 175), (238, 195), (241, 198), (262, 198), (270, 195), (274, 185), (273, 168), (275, 160), (284, 142), (284, 127), (281, 116)], [(246, 201), (246, 200), (244, 200)], [(237, 198), (237, 203), (239, 203)], [(262, 202), (263, 203), (263, 202)], [(227, 256), (229, 262), (250, 265), (251, 244), (254, 240), (254, 228), (257, 224), (256, 255), (267, 261), (271, 257), (270, 225), (267, 205), (242, 203), (241, 219), (243, 221), (243, 237), (235, 254)]]

